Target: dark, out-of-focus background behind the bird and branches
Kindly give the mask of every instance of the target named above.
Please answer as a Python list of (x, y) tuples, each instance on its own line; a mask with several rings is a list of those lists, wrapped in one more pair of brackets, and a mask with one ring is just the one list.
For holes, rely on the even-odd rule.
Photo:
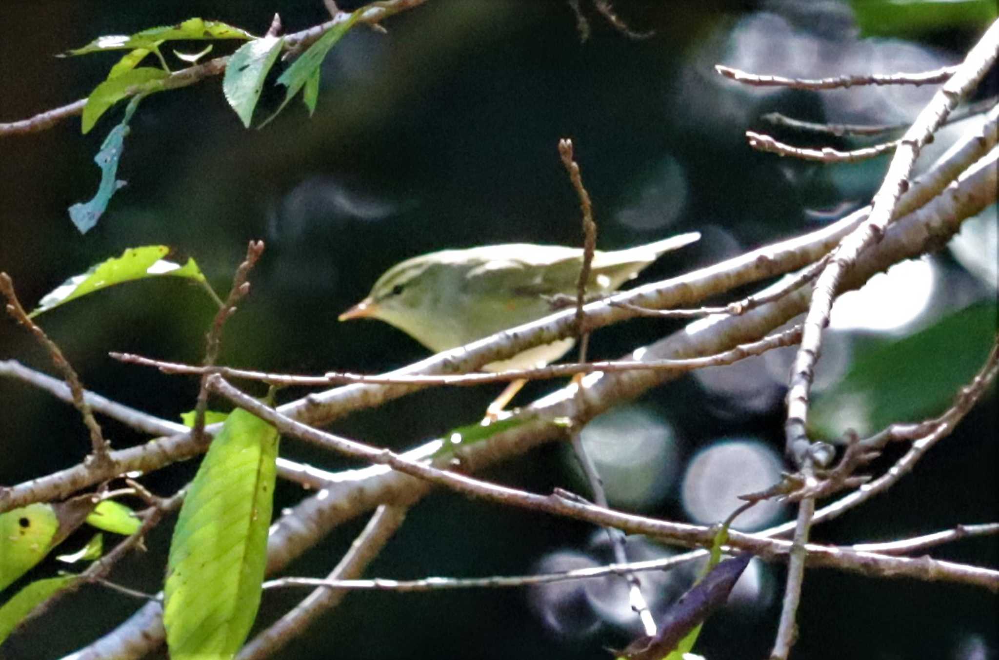
[[(914, 34), (864, 36), (850, 6), (840, 3), (620, 2), (618, 13), (635, 29), (655, 31), (650, 39), (632, 41), (608, 27), (585, 0), (581, 4), (591, 28), (585, 43), (562, 2), (432, 0), (388, 20), (389, 35), (359, 28), (324, 65), (315, 117), (309, 119), (296, 100), (262, 131), (242, 127), (218, 79), (149, 97), (131, 123), (118, 173), (128, 186), (86, 236), (65, 210), (93, 195), (93, 156), (122, 109), (110, 111), (86, 136), (72, 119), (43, 133), (0, 139), (0, 270), (14, 278), (22, 301), (32, 306), (70, 275), (127, 247), (167, 244), (195, 257), (224, 292), (247, 242), (263, 239), (267, 251), (252, 276), (253, 293), (226, 329), (222, 360), (298, 372), (387, 369), (426, 350), (388, 326), (339, 325), (336, 319), (391, 265), (449, 247), (580, 242), (577, 202), (557, 157), (559, 138), (575, 143), (600, 247), (681, 231), (704, 234), (700, 244), (649, 268), (643, 277), (651, 281), (813, 229), (863, 204), (875, 190), (884, 159), (823, 168), (750, 151), (743, 133), (764, 128), (759, 115), (780, 110), (817, 121), (890, 123), (911, 119), (932, 93), (757, 91), (721, 80), (711, 70), (715, 63), (809, 77), (918, 71), (960, 61), (985, 25), (954, 21)], [(328, 18), (316, 1), (4, 3), (0, 121), (85, 97), (117, 56), (52, 55), (98, 35), (192, 16), (260, 34), (275, 10), (289, 32)], [(210, 57), (233, 48), (219, 42)], [(181, 66), (172, 57), (171, 63)], [(280, 92), (266, 93), (262, 106), (273, 109), (280, 98)], [(829, 144), (776, 133), (797, 144)], [(939, 142), (943, 149), (949, 141)], [(935, 288), (925, 312), (901, 330), (841, 330), (843, 342), (856, 350), (891, 344), (964, 305), (994, 299), (995, 290), (949, 253), (927, 263)], [(193, 407), (195, 380), (122, 365), (107, 351), (197, 361), (213, 313), (211, 301), (195, 288), (166, 279), (103, 292), (41, 322), (88, 387), (176, 418)], [(675, 328), (633, 322), (604, 330), (594, 338), (594, 354), (617, 355)], [(946, 349), (963, 349), (960, 337)], [(9, 357), (52, 370), (26, 333), (4, 321), (0, 358)], [(639, 409), (668, 421), (678, 460), (721, 437), (779, 451), (782, 375), (764, 384), (760, 371), (750, 375), (741, 387), (727, 388), (682, 378), (647, 394)], [(753, 383), (751, 392), (746, 382)], [(532, 385), (521, 400), (551, 386)], [(766, 392), (762, 400), (760, 390)], [(410, 447), (478, 418), (496, 393), (490, 387), (426, 391), (354, 414), (334, 430)], [(878, 395), (890, 399), (890, 387)], [(0, 381), (0, 405), (0, 483), (30, 479), (83, 457), (86, 435), (72, 408), (6, 380)], [(995, 417), (993, 393), (912, 475), (862, 510), (822, 525), (815, 537), (882, 540), (994, 519)], [(146, 439), (113, 421), (105, 429), (116, 447)], [(293, 440), (285, 441), (282, 453), (328, 469), (349, 466)], [(197, 461), (188, 461), (144, 482), (169, 493), (196, 467)], [(571, 460), (557, 446), (487, 476), (542, 492), (555, 485), (581, 488)], [(296, 486), (279, 485), (279, 508), (301, 498)], [(676, 484), (642, 508), (685, 519)], [(326, 574), (362, 525), (336, 530), (293, 564), (291, 573)], [(115, 579), (156, 591), (169, 533), (170, 525), (157, 529), (150, 551), (123, 562)], [(520, 574), (564, 551), (606, 561), (591, 547), (592, 538), (587, 525), (439, 493), (411, 512), (369, 575)], [(995, 566), (997, 545), (970, 539), (933, 555)], [(30, 577), (57, 568), (46, 561)], [(707, 625), (699, 653), (712, 660), (767, 654), (783, 573), (779, 567), (758, 570), (758, 598)], [(574, 593), (564, 611), (552, 615), (555, 625), (525, 590), (352, 594), (280, 657), (604, 658), (603, 646), (626, 644), (626, 631), (599, 623)], [(259, 621), (272, 621), (304, 595), (265, 594)], [(114, 592), (85, 589), (27, 626), (0, 656), (59, 657), (136, 607)], [(994, 596), (980, 589), (817, 570), (805, 582), (795, 657), (991, 658), (994, 623)]]

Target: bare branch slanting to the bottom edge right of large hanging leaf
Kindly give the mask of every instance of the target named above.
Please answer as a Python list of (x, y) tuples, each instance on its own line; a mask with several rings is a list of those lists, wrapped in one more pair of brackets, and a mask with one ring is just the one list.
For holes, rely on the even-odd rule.
[[(379, 555), (396, 530), (406, 519), (406, 506), (383, 504), (375, 511), (361, 535), (351, 549), (326, 578), (328, 582), (350, 580), (361, 575), (365, 568)], [(347, 592), (329, 586), (317, 585), (318, 589), (295, 606), (269, 628), (257, 635), (236, 656), (237, 660), (259, 660), (280, 651), (295, 636), (299, 635), (320, 616), (340, 604)]]

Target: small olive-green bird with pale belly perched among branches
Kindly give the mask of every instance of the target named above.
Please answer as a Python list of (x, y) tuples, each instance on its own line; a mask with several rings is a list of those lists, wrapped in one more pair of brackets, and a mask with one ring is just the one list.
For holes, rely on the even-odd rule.
[[(660, 255), (700, 238), (693, 232), (627, 250), (596, 251), (586, 285), (589, 296), (615, 291)], [(436, 352), (553, 313), (550, 298), (575, 296), (582, 250), (508, 244), (444, 250), (397, 264), (379, 278), (368, 298), (340, 321), (378, 319)], [(567, 337), (528, 348), (483, 368), (543, 366), (572, 347)]]

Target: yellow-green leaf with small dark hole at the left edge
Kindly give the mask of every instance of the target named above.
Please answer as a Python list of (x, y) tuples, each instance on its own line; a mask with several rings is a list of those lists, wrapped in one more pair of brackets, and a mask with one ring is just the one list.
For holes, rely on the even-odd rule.
[(0, 591), (45, 558), (58, 530), (51, 504), (37, 502), (0, 513)]

